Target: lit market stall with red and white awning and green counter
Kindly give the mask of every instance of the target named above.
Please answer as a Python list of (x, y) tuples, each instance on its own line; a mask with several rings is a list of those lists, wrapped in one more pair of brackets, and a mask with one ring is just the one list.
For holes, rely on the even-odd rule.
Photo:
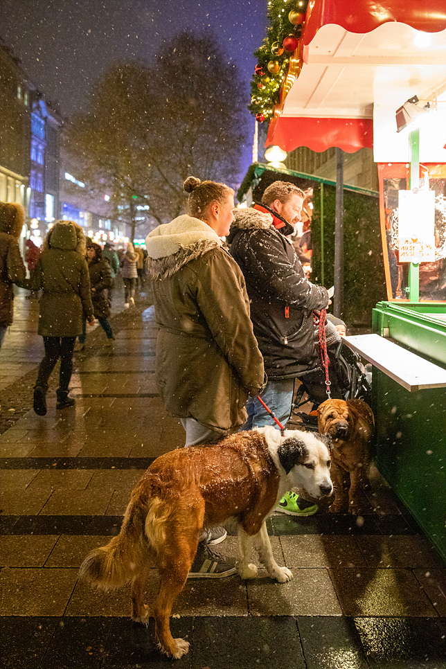
[(267, 145), (373, 148), (387, 301), (346, 341), (373, 364), (377, 467), (446, 558), (446, 5), (269, 6), (251, 98)]

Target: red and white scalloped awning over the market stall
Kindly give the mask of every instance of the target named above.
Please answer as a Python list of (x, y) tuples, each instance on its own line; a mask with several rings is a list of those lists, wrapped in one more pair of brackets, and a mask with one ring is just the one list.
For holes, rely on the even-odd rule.
[(446, 91), (446, 0), (310, 0), (301, 40), (267, 145), (376, 149), (373, 125), (383, 139), (387, 119), (405, 152), (395, 110)]

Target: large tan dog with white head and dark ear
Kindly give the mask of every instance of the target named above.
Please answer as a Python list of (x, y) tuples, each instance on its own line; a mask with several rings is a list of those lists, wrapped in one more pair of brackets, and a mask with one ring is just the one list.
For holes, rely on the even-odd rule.
[[(105, 589), (132, 582), (132, 619), (154, 616), (161, 652), (179, 659), (184, 639), (170, 634), (172, 605), (184, 587), (203, 528), (235, 520), (241, 578), (254, 578), (255, 544), (269, 576), (292, 579), (274, 560), (265, 520), (283, 494), (305, 488), (312, 497), (332, 493), (330, 438), (274, 427), (238, 432), (220, 443), (181, 448), (157, 458), (132, 492), (121, 532), (85, 558), (80, 576)], [(143, 603), (150, 567), (161, 584), (150, 610)]]

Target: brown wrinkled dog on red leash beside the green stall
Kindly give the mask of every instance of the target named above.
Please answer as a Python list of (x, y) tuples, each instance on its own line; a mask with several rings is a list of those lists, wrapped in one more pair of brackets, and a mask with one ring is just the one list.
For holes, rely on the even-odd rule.
[[(373, 436), (375, 419), (371, 408), (362, 400), (325, 400), (319, 405), (318, 429), (332, 438), (331, 476), (333, 513), (361, 511), (359, 490), (368, 481), (370, 454), (368, 445)], [(344, 488), (344, 472), (350, 474), (350, 488)]]

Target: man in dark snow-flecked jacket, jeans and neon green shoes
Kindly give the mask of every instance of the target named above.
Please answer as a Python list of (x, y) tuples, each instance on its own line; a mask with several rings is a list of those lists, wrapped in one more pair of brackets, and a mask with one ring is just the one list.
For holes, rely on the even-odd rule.
[[(305, 194), (287, 181), (267, 187), (262, 204), (234, 211), (226, 240), (247, 284), (251, 320), (268, 375), (262, 400), (285, 425), (291, 412), (294, 379), (318, 365), (313, 311), (325, 309), (328, 291), (305, 278), (292, 242), (301, 220)], [(244, 429), (271, 425), (271, 416), (256, 399), (247, 404)], [(285, 500), (285, 501), (284, 501)], [(280, 501), (289, 515), (311, 515), (316, 504), (290, 492)]]

